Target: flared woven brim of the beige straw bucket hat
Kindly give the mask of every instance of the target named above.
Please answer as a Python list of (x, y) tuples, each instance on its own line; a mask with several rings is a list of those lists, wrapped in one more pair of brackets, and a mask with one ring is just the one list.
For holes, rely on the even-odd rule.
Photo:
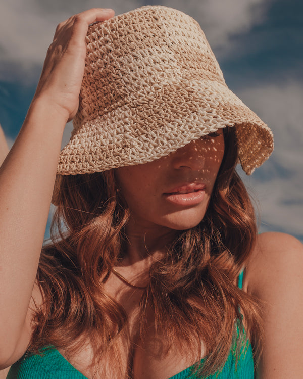
[(148, 98), (134, 97), (84, 120), (60, 153), (55, 190), (60, 175), (154, 161), (226, 126), (236, 126), (240, 163), (249, 175), (273, 150), (267, 125), (221, 83), (179, 79), (163, 84)]

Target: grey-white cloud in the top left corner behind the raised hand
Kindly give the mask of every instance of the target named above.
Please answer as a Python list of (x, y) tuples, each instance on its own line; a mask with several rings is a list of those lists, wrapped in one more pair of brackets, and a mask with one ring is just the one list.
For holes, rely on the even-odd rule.
[[(140, 6), (136, 0), (103, 0), (102, 7), (114, 8), (116, 14)], [(33, 71), (41, 69), (48, 46), (53, 41), (56, 26), (69, 16), (84, 9), (100, 7), (98, 0), (58, 2), (52, 0), (10, 0), (0, 6), (0, 79), (12, 76), (27, 81)], [(13, 69), (12, 69), (13, 66)], [(19, 69), (19, 72), (18, 72)]]

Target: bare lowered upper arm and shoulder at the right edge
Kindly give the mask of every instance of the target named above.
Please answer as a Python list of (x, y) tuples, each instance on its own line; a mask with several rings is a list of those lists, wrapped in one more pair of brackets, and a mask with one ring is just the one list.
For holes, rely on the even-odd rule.
[(264, 350), (257, 377), (303, 376), (303, 245), (264, 233), (247, 265), (247, 292), (264, 302)]

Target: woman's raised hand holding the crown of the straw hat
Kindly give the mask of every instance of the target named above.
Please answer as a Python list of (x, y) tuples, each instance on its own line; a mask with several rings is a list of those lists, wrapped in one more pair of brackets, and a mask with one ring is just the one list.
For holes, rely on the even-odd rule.
[(63, 112), (66, 121), (75, 116), (84, 73), (88, 26), (112, 16), (113, 10), (90, 9), (57, 26), (54, 41), (46, 54), (34, 101), (41, 97), (46, 99), (56, 111)]

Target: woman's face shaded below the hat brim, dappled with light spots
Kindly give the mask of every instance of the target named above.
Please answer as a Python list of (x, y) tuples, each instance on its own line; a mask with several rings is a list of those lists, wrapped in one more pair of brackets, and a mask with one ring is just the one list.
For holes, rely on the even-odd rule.
[(204, 217), (224, 154), (222, 129), (153, 162), (115, 170), (138, 228), (184, 230)]

